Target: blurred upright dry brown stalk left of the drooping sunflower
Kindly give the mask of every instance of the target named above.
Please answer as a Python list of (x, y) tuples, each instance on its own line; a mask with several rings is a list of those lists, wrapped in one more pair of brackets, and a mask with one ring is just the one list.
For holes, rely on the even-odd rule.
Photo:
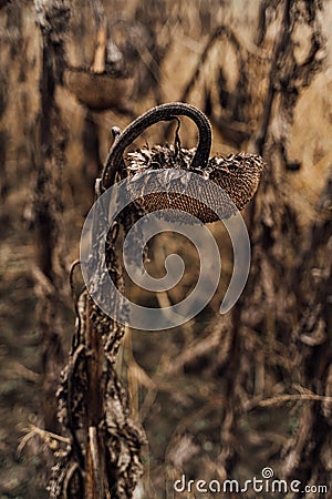
[(42, 35), (41, 115), (37, 150), (34, 190), (34, 231), (37, 246), (37, 293), (42, 345), (42, 413), (46, 430), (56, 430), (55, 391), (63, 366), (62, 325), (58, 304), (65, 283), (62, 237), (62, 167), (65, 129), (55, 102), (55, 86), (61, 82), (64, 60), (64, 33), (70, 7), (60, 2), (35, 1), (37, 20)]

